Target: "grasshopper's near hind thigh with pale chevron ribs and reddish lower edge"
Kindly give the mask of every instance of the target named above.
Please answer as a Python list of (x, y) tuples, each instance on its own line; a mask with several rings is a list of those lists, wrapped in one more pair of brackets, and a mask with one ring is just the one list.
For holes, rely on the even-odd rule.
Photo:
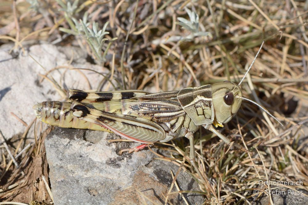
[(157, 123), (141, 117), (104, 112), (87, 105), (73, 102), (73, 115), (87, 122), (98, 124), (112, 132), (135, 142), (154, 143), (166, 137), (164, 129)]

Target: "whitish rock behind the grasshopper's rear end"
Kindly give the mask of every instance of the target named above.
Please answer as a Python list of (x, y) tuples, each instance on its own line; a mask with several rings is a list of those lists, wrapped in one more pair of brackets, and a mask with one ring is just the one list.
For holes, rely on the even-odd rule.
[[(87, 54), (80, 48), (63, 48), (49, 44), (33, 45), (26, 51), (26, 54), (19, 53), (14, 56), (14, 54), (9, 54), (12, 46), (13, 44), (6, 44), (0, 47), (0, 129), (6, 139), (25, 131), (25, 125), (11, 112), (30, 124), (35, 119), (32, 110), (34, 104), (48, 100), (64, 100), (55, 91), (54, 85), (46, 79), (42, 81), (43, 77), (40, 74), (46, 75), (46, 71), (39, 64), (47, 71), (58, 68), (51, 71), (51, 75), (64, 89), (96, 89), (103, 79), (93, 71), (69, 70), (69, 68), (87, 68), (101, 73), (108, 72), (101, 66), (87, 62), (85, 60)], [(89, 82), (86, 81), (84, 75), (87, 76)]]

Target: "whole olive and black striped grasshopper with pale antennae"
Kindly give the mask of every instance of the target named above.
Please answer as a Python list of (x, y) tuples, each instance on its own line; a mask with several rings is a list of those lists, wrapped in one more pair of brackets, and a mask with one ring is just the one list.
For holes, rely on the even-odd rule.
[(242, 99), (249, 100), (242, 97), (239, 87), (249, 69), (238, 85), (224, 81), (152, 94), (139, 90), (84, 92), (70, 89), (67, 97), (71, 102), (47, 101), (34, 105), (33, 109), (37, 119), (50, 125), (114, 132), (142, 143), (124, 151), (138, 151), (147, 144), (187, 137), (190, 160), (194, 160), (193, 133), (201, 126), (230, 144), (213, 125), (223, 127), (236, 115)]

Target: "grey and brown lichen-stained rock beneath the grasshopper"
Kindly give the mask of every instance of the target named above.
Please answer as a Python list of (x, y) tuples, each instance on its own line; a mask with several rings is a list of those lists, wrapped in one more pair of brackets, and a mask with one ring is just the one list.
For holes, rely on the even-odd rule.
[[(136, 143), (108, 143), (120, 139), (99, 131), (56, 128), (45, 141), (51, 191), (56, 205), (61, 204), (158, 204), (164, 203), (178, 166), (153, 160), (149, 150), (119, 156), (119, 150)], [(199, 190), (188, 173), (180, 172), (181, 190)], [(174, 187), (172, 191), (177, 191)], [(141, 194), (142, 193), (142, 194)], [(144, 196), (143, 196), (144, 195)], [(202, 204), (201, 195), (184, 194), (189, 204)], [(185, 204), (170, 195), (172, 204)]]

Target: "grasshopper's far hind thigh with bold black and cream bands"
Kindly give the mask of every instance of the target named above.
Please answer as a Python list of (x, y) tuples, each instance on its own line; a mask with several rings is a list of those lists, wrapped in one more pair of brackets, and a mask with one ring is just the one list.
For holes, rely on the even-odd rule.
[(78, 101), (83, 103), (104, 102), (104, 101), (119, 101), (130, 99), (148, 94), (146, 91), (141, 90), (119, 90), (107, 92), (85, 92), (82, 90), (69, 89), (67, 97), (71, 101)]

